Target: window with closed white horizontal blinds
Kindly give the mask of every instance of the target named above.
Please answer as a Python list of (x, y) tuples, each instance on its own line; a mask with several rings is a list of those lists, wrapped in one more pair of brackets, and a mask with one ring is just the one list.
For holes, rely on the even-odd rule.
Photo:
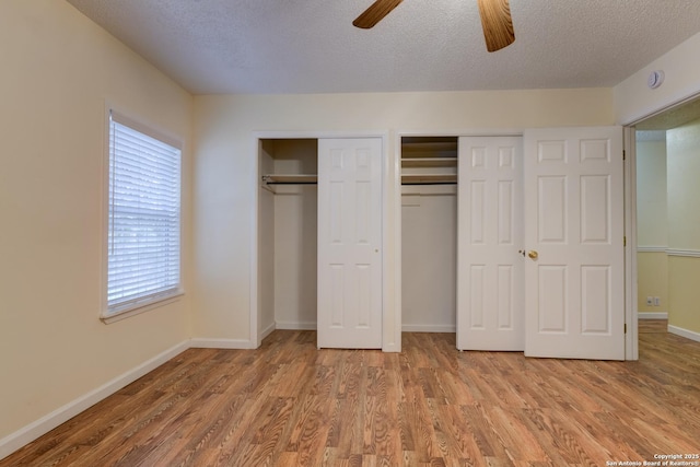
[[(136, 128), (139, 128), (138, 130)], [(180, 290), (180, 150), (109, 113), (107, 303), (103, 318)]]

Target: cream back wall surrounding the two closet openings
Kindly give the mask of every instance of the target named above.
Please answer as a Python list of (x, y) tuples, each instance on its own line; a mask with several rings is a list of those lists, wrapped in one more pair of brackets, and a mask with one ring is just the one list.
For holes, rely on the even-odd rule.
[[(533, 127), (614, 122), (610, 89), (462, 93), (210, 95), (195, 97), (195, 337), (249, 345), (250, 260), (257, 196), (256, 131), (387, 132), (394, 177), (398, 133), (512, 132)], [(388, 188), (387, 212), (397, 196)], [(400, 342), (395, 310), (396, 225), (385, 225), (389, 252), (384, 342)], [(393, 248), (393, 249), (392, 249)], [(399, 343), (400, 345), (400, 343)]]

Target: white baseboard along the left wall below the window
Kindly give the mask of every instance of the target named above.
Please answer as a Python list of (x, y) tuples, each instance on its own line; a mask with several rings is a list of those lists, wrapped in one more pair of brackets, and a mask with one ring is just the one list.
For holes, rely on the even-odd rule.
[(20, 447), (31, 443), (37, 437), (48, 433), (61, 423), (67, 422), (78, 413), (88, 410), (98, 401), (112, 396), (117, 390), (133, 383), (147, 373), (155, 370), (163, 363), (167, 362), (175, 355), (184, 352), (189, 348), (189, 341), (180, 342), (175, 347), (155, 355), (151, 360), (148, 360), (137, 367), (115, 377), (108, 383), (100, 386), (96, 389), (66, 404), (63, 407), (59, 407), (52, 412), (42, 417), (40, 419), (27, 424), (26, 427), (15, 431), (12, 434), (0, 440), (0, 459), (9, 456), (18, 451)]

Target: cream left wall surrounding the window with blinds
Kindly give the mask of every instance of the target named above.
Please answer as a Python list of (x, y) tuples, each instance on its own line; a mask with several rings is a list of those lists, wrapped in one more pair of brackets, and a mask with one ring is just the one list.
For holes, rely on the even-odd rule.
[(189, 225), (192, 100), (65, 1), (2, 0), (0, 44), (2, 441), (189, 337), (189, 295), (98, 316), (105, 101), (184, 140)]

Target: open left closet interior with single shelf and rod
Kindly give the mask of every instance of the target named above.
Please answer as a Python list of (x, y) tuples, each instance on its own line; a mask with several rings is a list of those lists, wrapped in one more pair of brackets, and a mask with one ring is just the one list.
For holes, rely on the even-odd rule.
[(258, 329), (315, 329), (317, 139), (258, 144)]

